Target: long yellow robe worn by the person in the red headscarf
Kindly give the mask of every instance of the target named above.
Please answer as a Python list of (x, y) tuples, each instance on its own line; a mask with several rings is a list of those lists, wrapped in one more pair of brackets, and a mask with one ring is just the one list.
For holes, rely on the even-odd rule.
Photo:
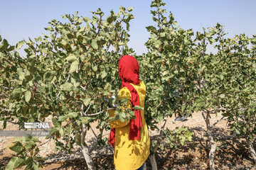
[[(139, 94), (139, 106), (144, 108), (146, 97), (146, 86), (143, 81), (134, 85), (134, 89)], [(127, 87), (119, 91), (119, 100), (122, 98), (131, 99), (131, 94)], [(144, 111), (140, 111), (142, 115), (142, 128), (140, 130), (140, 140), (129, 140), (129, 121), (122, 123), (120, 120), (110, 122), (110, 127), (115, 128), (114, 139), (114, 169), (116, 170), (136, 170), (149, 157), (149, 132), (144, 118)], [(114, 111), (109, 111), (110, 117), (114, 116)]]

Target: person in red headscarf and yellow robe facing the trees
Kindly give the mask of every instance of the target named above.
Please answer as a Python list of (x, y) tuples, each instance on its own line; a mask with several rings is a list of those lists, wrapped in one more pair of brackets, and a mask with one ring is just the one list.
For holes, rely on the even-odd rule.
[[(127, 108), (140, 106), (144, 108), (146, 86), (139, 79), (139, 64), (137, 60), (124, 55), (119, 60), (119, 77), (122, 79), (122, 87), (118, 98), (127, 98)], [(131, 106), (132, 104), (132, 106)], [(109, 143), (114, 147), (115, 170), (141, 170), (144, 162), (149, 157), (149, 132), (146, 126), (143, 110), (133, 110), (136, 118), (124, 121), (110, 122)], [(109, 111), (110, 118), (114, 116), (114, 110)]]

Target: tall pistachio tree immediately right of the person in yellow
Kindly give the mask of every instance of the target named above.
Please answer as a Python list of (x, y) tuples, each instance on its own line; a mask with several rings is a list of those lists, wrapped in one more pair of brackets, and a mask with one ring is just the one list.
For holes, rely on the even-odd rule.
[[(172, 13), (166, 15), (166, 10), (161, 8), (166, 4), (156, 0), (151, 2), (151, 11), (155, 26), (148, 26), (150, 33), (146, 42), (148, 52), (139, 59), (142, 64), (142, 77), (146, 81), (145, 117), (151, 128), (157, 128), (161, 123), (159, 139), (151, 142), (151, 166), (157, 169), (154, 153), (163, 147), (163, 141), (170, 147), (176, 142), (191, 141), (191, 132), (183, 128), (184, 132), (176, 133), (165, 130), (167, 120), (178, 113), (193, 113), (193, 98), (196, 91), (196, 67), (191, 64), (190, 56), (193, 54), (192, 30), (183, 30), (177, 26)], [(176, 135), (173, 135), (176, 134)], [(170, 140), (174, 137), (176, 140)], [(181, 138), (179, 138), (181, 137)], [(169, 139), (169, 140), (167, 140)]]

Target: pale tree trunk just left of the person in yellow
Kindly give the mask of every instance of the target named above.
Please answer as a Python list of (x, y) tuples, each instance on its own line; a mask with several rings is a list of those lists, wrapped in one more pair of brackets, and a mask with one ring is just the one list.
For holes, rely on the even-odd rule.
[(96, 170), (95, 164), (92, 162), (92, 158), (90, 157), (89, 148), (85, 143), (85, 135), (86, 135), (86, 127), (84, 124), (82, 124), (82, 132), (81, 132), (81, 150), (82, 155), (85, 158), (85, 162), (87, 164), (88, 169), (90, 170)]

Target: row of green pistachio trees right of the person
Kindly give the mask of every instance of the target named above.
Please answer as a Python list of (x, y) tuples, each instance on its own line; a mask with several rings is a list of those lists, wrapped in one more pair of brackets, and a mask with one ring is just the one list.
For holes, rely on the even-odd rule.
[[(221, 113), (228, 119), (230, 130), (246, 140), (256, 163), (252, 145), (256, 132), (256, 36), (226, 38), (219, 23), (203, 28), (203, 33), (183, 30), (163, 6), (162, 1), (152, 1), (156, 26), (146, 28), (150, 33), (145, 44), (149, 52), (141, 60), (151, 93), (146, 113), (157, 122), (176, 113), (200, 111), (210, 142), (210, 169), (215, 169), (217, 147), (212, 133), (217, 122), (210, 124), (210, 116)], [(206, 52), (210, 45), (216, 54)]]

